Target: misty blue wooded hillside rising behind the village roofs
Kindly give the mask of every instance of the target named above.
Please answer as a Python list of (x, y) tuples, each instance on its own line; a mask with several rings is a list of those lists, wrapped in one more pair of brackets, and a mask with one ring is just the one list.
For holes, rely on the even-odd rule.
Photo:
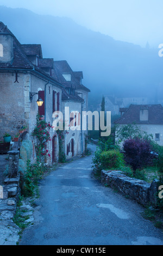
[(0, 17), (22, 44), (41, 44), (44, 58), (67, 60), (74, 71), (83, 71), (91, 99), (102, 94), (155, 96), (156, 87), (162, 98), (159, 49), (116, 41), (71, 19), (36, 15), (26, 9), (0, 7)]

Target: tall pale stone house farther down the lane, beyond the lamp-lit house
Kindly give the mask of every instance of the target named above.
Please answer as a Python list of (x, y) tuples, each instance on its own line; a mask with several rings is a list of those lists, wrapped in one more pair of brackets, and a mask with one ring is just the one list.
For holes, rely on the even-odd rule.
[(82, 111), (87, 111), (90, 90), (82, 84), (83, 72), (72, 71), (66, 60), (54, 61), (52, 75), (65, 87), (62, 88), (62, 113), (65, 117), (65, 107), (68, 107), (69, 120), (67, 122), (74, 125), (74, 129), (70, 128), (65, 137), (64, 148), (68, 159), (84, 153), (87, 131), (82, 130), (80, 120)]

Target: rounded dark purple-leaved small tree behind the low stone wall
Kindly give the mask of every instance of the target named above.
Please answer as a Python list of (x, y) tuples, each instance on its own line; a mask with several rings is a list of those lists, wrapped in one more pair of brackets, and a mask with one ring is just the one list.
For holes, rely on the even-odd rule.
[(151, 154), (151, 143), (143, 138), (130, 138), (123, 143), (124, 160), (133, 168), (135, 175), (136, 169), (149, 166), (154, 155)]

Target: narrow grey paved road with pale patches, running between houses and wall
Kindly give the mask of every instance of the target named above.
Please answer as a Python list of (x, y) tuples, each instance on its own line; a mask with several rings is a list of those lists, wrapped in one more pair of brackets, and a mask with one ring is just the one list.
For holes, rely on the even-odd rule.
[(91, 178), (91, 162), (66, 163), (41, 181), (36, 223), (20, 245), (163, 245), (139, 204)]

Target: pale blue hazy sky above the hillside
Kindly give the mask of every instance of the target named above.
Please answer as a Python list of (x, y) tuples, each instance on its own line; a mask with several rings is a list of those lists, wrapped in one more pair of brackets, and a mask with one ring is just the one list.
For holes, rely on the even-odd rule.
[(93, 31), (141, 46), (163, 43), (163, 0), (0, 0), (0, 5), (70, 17)]

